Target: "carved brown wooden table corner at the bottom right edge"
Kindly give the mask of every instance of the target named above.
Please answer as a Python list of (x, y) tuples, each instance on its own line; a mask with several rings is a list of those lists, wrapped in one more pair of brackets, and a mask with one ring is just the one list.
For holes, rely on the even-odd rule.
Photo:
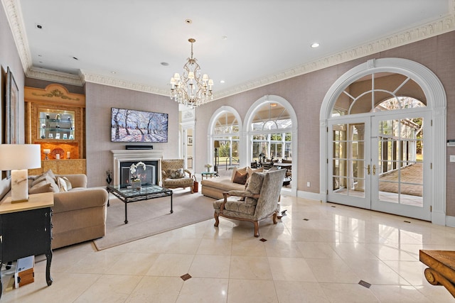
[(455, 297), (455, 251), (419, 250), (420, 262), (428, 265), (425, 278), (432, 285), (442, 285)]

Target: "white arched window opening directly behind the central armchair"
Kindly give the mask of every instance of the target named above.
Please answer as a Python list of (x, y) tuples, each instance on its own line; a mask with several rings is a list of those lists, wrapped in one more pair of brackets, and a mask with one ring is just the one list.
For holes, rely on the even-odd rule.
[[(262, 116), (258, 119), (257, 114), (259, 111), (268, 107), (267, 114), (262, 114)], [(272, 108), (279, 109), (278, 111), (273, 112)], [(284, 114), (285, 113), (285, 114)], [(260, 116), (260, 115), (259, 115)], [(284, 116), (285, 119), (284, 119)], [(272, 119), (270, 119), (272, 118)], [(273, 119), (277, 121), (288, 121), (290, 120), (290, 125), (287, 123), (282, 124), (278, 123), (277, 121), (272, 121)], [(259, 121), (260, 120), (260, 121)], [(246, 166), (250, 165), (253, 157), (253, 144), (254, 140), (253, 137), (255, 135), (267, 134), (269, 137), (274, 133), (289, 133), (291, 141), (289, 143), (285, 143), (286, 147), (283, 150), (280, 150), (280, 157), (286, 158), (288, 155), (291, 156), (291, 170), (294, 172), (291, 177), (291, 188), (289, 189), (289, 193), (291, 195), (296, 196), (297, 193), (297, 167), (298, 167), (298, 150), (297, 150), (297, 116), (294, 111), (294, 108), (291, 106), (289, 101), (284, 99), (283, 97), (279, 97), (277, 95), (266, 95), (257, 101), (255, 101), (250, 109), (248, 109), (247, 114), (245, 116), (245, 123), (242, 131), (242, 138), (245, 138), (245, 150), (242, 150), (242, 153), (246, 155), (245, 162), (241, 162), (240, 165)], [(282, 142), (285, 138), (284, 136), (280, 136), (280, 140)], [(283, 145), (283, 144), (282, 144)], [(288, 146), (289, 145), (289, 146)], [(270, 146), (268, 146), (270, 148)], [(267, 157), (271, 157), (273, 153), (267, 155)], [(276, 156), (276, 154), (275, 154)]]

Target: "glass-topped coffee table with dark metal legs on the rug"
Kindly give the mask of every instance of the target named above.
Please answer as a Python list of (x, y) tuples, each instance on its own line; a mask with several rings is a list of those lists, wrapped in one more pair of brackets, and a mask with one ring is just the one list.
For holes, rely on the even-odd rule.
[[(159, 187), (155, 184), (143, 184), (141, 189), (132, 189), (131, 187), (126, 187), (124, 185), (109, 185), (106, 189), (107, 192), (112, 192), (115, 197), (119, 198), (119, 200), (125, 204), (125, 224), (128, 223), (127, 205), (132, 202), (171, 196), (171, 214), (173, 213), (173, 192), (171, 189)], [(109, 200), (107, 202), (107, 206), (109, 206)]]

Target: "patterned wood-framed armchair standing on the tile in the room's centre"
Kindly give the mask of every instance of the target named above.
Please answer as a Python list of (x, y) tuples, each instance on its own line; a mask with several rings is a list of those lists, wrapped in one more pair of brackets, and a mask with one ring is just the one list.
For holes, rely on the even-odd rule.
[(286, 170), (253, 172), (245, 191), (224, 192), (224, 199), (213, 202), (215, 226), (219, 217), (251, 221), (255, 226), (255, 237), (259, 237), (259, 221), (273, 216), (277, 224), (278, 201)]

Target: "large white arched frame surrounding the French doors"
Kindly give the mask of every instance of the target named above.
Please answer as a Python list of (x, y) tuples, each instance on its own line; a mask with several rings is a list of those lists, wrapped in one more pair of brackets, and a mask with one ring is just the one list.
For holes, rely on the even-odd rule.
[[(431, 200), (432, 213), (431, 220), (435, 224), (445, 225), (445, 204), (446, 204), (446, 94), (444, 87), (434, 73), (427, 67), (411, 60), (400, 58), (384, 58), (378, 60), (368, 60), (342, 75), (328, 90), (321, 104), (320, 111), (320, 148), (321, 148), (321, 199), (327, 201), (327, 191), (329, 182), (328, 172), (328, 126), (332, 118), (332, 111), (336, 106), (338, 97), (343, 94), (345, 89), (358, 79), (378, 73), (396, 73), (409, 77), (422, 89), (426, 101), (429, 119), (432, 127), (429, 131), (429, 148), (432, 163), (430, 170), (430, 194), (427, 198)], [(374, 82), (373, 82), (374, 83)], [(422, 98), (422, 97), (421, 97)], [(374, 98), (372, 98), (374, 99)], [(372, 102), (374, 103), (374, 102)], [(358, 117), (371, 116), (371, 114), (357, 114)], [(437, 136), (436, 136), (437, 134)]]

